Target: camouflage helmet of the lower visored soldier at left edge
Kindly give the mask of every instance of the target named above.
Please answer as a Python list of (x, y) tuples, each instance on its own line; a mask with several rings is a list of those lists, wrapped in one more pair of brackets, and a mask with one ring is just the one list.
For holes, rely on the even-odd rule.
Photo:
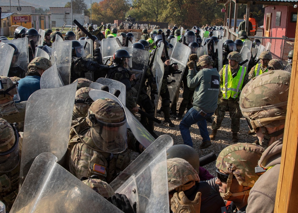
[(0, 152), (6, 152), (15, 143), (13, 127), (4, 119), (0, 118)]

